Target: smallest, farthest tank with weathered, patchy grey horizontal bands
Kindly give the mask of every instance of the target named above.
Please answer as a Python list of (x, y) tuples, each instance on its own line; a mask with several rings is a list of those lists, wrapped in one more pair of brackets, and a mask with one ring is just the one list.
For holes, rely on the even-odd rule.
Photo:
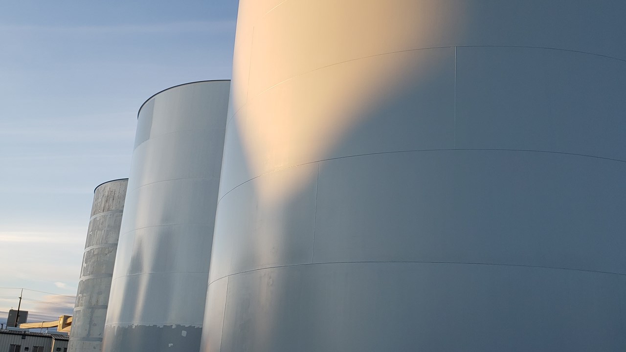
[(69, 334), (69, 352), (93, 352), (102, 349), (127, 185), (128, 179), (112, 180), (94, 190), (83, 267)]

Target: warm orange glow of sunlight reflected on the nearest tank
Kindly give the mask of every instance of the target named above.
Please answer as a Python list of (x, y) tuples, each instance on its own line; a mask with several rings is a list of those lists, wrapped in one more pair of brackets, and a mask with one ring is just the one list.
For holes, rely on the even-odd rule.
[[(244, 106), (235, 123), (252, 174), (332, 157), (366, 111), (428, 74), (411, 50), (439, 43), (446, 11), (437, 1), (289, 0), (250, 23), (231, 98)], [(259, 197), (279, 202), (315, 176), (264, 185)]]

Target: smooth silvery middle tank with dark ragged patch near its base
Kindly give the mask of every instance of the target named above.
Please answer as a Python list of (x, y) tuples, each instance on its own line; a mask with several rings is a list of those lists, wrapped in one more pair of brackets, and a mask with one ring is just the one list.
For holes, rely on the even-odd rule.
[(189, 83), (141, 106), (105, 352), (199, 349), (229, 89)]

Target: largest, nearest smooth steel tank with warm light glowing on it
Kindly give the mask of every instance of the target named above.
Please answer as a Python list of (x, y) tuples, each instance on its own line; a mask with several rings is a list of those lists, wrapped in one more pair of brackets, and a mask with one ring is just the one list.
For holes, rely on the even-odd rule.
[(626, 3), (242, 0), (202, 351), (623, 351)]

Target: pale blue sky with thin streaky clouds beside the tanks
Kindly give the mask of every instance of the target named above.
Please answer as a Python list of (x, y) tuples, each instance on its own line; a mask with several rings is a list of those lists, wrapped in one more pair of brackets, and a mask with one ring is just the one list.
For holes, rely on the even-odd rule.
[(237, 6), (0, 0), (0, 323), (11, 287), (29, 321), (71, 314), (93, 189), (128, 177), (143, 101), (230, 79)]

